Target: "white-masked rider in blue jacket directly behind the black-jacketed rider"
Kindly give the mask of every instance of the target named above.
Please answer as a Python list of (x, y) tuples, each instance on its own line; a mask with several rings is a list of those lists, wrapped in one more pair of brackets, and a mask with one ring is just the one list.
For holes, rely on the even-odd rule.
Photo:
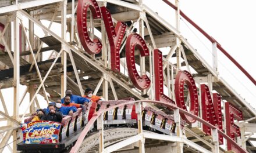
[[(56, 111), (61, 113), (62, 115), (70, 115), (70, 116), (72, 116), (73, 112), (77, 111), (77, 108), (74, 107), (74, 106), (72, 106), (72, 107), (64, 107), (64, 106), (62, 106), (60, 99), (57, 99), (55, 101), (55, 103), (52, 103), (52, 104), (55, 105)], [(45, 109), (45, 112), (48, 113), (49, 112), (49, 108)]]

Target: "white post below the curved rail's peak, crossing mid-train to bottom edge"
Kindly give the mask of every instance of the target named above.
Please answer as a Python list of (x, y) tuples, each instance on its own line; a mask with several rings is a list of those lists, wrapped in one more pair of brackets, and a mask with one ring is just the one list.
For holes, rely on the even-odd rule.
[(145, 139), (143, 137), (143, 123), (142, 123), (142, 115), (141, 115), (141, 103), (138, 102), (135, 104), (136, 114), (137, 114), (137, 125), (138, 125), (138, 134), (141, 134), (141, 139), (138, 141), (139, 152), (145, 152)]

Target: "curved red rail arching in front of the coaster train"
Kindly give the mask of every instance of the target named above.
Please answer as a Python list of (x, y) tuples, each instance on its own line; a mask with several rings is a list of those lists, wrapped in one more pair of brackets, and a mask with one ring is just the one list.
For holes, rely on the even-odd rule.
[[(120, 101), (122, 101), (122, 100), (120, 100)], [(197, 120), (197, 121), (203, 123), (204, 125), (208, 126), (209, 128), (216, 129), (217, 132), (219, 134), (221, 134), (221, 136), (223, 136), (227, 141), (229, 141), (232, 145), (234, 145), (234, 147), (236, 147), (237, 150), (239, 150), (240, 152), (247, 152), (247, 151), (243, 150), (243, 148), (241, 148), (233, 139), (231, 139), (229, 136), (227, 136), (224, 132), (222, 132), (221, 130), (216, 128), (211, 123), (208, 123), (204, 119), (201, 119), (198, 116), (190, 114), (190, 112), (187, 112), (186, 110), (183, 110), (182, 108), (177, 107), (177, 105), (175, 105), (175, 104), (171, 104), (171, 103), (168, 103), (168, 102), (165, 102), (165, 101), (155, 101), (155, 100), (137, 100), (137, 101), (126, 101), (126, 100), (123, 100), (122, 104), (113, 105), (112, 107), (106, 108), (105, 110), (99, 110), (98, 112), (95, 112), (93, 114), (93, 117), (87, 123), (86, 127), (84, 128), (84, 130), (80, 133), (80, 136), (79, 136), (79, 138), (76, 141), (76, 144), (72, 147), (72, 150), (70, 152), (71, 153), (75, 153), (75, 152), (77, 152), (79, 150), (81, 143), (83, 143), (84, 137), (86, 137), (86, 134), (89, 132), (91, 126), (94, 125), (94, 122), (97, 120), (97, 118), (99, 118), (99, 116), (102, 113), (105, 113), (105, 112), (107, 112), (109, 110), (112, 110), (112, 109), (114, 109), (116, 107), (120, 107), (120, 106), (127, 105), (127, 104), (140, 103), (140, 102), (161, 104), (161, 105), (164, 105), (165, 107), (167, 107), (169, 110), (176, 110), (177, 109), (180, 114), (186, 114), (186, 115), (190, 116), (191, 118), (194, 118), (195, 120)]]

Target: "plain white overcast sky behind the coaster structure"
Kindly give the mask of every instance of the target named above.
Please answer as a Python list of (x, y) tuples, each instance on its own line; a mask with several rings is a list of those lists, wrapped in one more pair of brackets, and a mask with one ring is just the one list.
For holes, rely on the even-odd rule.
[[(173, 0), (171, 2), (175, 3)], [(169, 6), (162, 5), (163, 2), (161, 0), (144, 0), (144, 3), (175, 26), (175, 12)], [(155, 3), (158, 3), (159, 7), (155, 7)], [(254, 48), (254, 37), (256, 35), (255, 6), (256, 1), (254, 0), (180, 0), (180, 9), (209, 35), (214, 37), (216, 41), (253, 76), (253, 78), (256, 78), (254, 64), (254, 58), (256, 56), (256, 49)], [(193, 32), (186, 27), (183, 21), (181, 21), (180, 24), (182, 27), (182, 35), (188, 39), (191, 45), (193, 45), (198, 52), (209, 56), (209, 54), (211, 54), (209, 52), (209, 50), (211, 50), (211, 44), (204, 39), (204, 37), (200, 37), (189, 23), (186, 23), (191, 30), (197, 34), (197, 37), (200, 37), (200, 41), (204, 42), (204, 45), (209, 49), (207, 50), (199, 39), (193, 35)], [(218, 51), (218, 53), (220, 53), (220, 51)], [(218, 54), (218, 56), (220, 56), (219, 67), (221, 76), (229, 76), (226, 77), (226, 81), (228, 80), (227, 78), (229, 78), (229, 80), (235, 79), (234, 77), (238, 78), (239, 81), (230, 83), (230, 85), (236, 88), (237, 92), (249, 103), (254, 103), (256, 98), (255, 85), (248, 81), (246, 77), (239, 74), (239, 72), (235, 71), (237, 68), (234, 65), (230, 65), (229, 60), (223, 59), (220, 54)], [(207, 59), (206, 55), (205, 59)], [(211, 60), (211, 58), (209, 60)], [(211, 62), (209, 62), (209, 64), (211, 64)], [(226, 67), (232, 74), (230, 74), (230, 72), (226, 74), (225, 71), (227, 70), (223, 69), (223, 67)], [(244, 88), (244, 86), (246, 86), (246, 88)], [(12, 92), (12, 89), (4, 89), (2, 92), (3, 95), (6, 95)], [(22, 93), (23, 90), (20, 91), (20, 94)], [(5, 100), (7, 100), (7, 98), (5, 98)], [(12, 108), (12, 104), (9, 106)], [(253, 106), (255, 107), (255, 104), (253, 104)], [(2, 106), (0, 110), (2, 110)]]

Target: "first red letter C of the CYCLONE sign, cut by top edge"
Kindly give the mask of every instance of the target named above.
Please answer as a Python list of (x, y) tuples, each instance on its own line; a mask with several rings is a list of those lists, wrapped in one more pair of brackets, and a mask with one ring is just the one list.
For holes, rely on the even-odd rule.
[(77, 4), (77, 30), (84, 50), (89, 54), (101, 52), (101, 42), (99, 39), (91, 41), (87, 31), (87, 9), (93, 13), (93, 19), (101, 19), (101, 12), (95, 0), (79, 0)]

